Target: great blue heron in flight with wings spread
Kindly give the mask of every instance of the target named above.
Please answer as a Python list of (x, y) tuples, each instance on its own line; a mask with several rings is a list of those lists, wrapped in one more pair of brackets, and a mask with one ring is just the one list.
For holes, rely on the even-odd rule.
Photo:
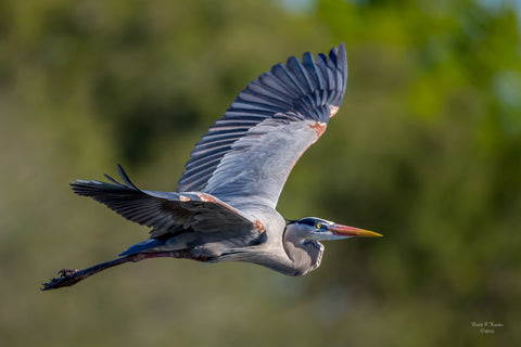
[(345, 46), (315, 60), (290, 56), (247, 85), (225, 116), (195, 145), (177, 192), (137, 188), (118, 165), (123, 182), (76, 180), (91, 196), (123, 217), (152, 228), (150, 239), (112, 261), (62, 270), (42, 290), (69, 286), (99, 271), (148, 258), (247, 261), (289, 275), (315, 270), (319, 241), (381, 236), (363, 229), (307, 217), (285, 223), (275, 209), (296, 160), (326, 130), (339, 110), (347, 80)]

